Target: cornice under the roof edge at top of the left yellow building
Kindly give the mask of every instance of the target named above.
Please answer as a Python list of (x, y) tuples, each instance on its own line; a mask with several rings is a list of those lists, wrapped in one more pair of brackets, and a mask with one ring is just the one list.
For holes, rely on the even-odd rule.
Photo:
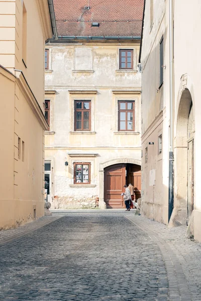
[(53, 31), (48, 0), (36, 0), (36, 4), (38, 7), (39, 18), (42, 25), (45, 40), (51, 39), (53, 36)]

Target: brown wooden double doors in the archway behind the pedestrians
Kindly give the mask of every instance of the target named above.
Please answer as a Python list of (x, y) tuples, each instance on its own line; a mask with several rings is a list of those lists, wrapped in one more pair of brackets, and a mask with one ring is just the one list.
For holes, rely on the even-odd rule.
[(141, 166), (122, 163), (104, 169), (104, 201), (107, 208), (125, 208), (122, 192), (124, 185), (135, 188), (135, 200), (141, 197)]

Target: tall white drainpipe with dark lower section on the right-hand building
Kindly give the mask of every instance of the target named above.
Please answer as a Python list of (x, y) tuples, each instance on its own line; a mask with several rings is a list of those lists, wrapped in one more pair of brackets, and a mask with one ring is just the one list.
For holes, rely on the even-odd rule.
[(169, 0), (169, 68), (170, 68), (170, 140), (169, 140), (169, 190), (168, 222), (174, 207), (174, 36), (173, 36), (173, 0)]

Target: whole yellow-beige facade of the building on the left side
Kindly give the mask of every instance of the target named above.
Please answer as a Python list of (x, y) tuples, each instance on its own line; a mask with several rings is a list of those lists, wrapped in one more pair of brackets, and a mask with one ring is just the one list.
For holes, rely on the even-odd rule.
[(44, 215), (47, 1), (0, 1), (0, 229)]

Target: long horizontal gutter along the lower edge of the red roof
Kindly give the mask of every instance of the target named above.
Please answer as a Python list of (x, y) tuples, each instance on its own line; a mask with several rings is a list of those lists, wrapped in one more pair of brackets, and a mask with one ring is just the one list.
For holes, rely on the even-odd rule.
[[(50, 0), (52, 1), (52, 0)], [(58, 36), (59, 40), (140, 40), (140, 36)]]

